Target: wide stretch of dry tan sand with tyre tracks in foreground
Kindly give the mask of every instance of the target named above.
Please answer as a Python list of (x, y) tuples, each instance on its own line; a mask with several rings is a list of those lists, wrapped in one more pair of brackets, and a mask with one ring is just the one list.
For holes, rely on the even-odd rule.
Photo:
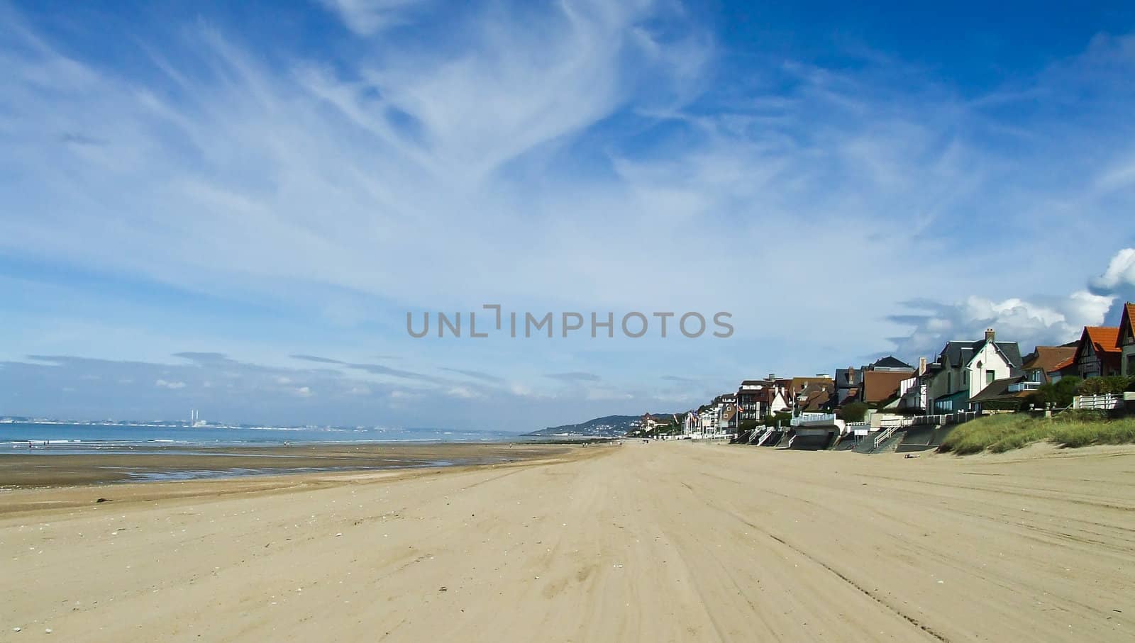
[(1132, 641), (1133, 483), (1129, 447), (671, 442), (9, 491), (0, 640)]

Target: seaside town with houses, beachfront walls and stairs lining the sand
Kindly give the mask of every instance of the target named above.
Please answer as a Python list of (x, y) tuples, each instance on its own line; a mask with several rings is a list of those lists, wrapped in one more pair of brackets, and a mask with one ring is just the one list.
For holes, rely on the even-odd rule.
[(627, 434), (810, 449), (854, 448), (872, 437), (868, 450), (900, 443), (916, 450), (939, 446), (936, 428), (983, 414), (1115, 411), (1135, 401), (1133, 319), (1135, 304), (1127, 303), (1118, 327), (1084, 327), (1076, 341), (1028, 354), (990, 328), (980, 338), (948, 341), (917, 364), (885, 356), (832, 375), (770, 373), (688, 413), (646, 413)]

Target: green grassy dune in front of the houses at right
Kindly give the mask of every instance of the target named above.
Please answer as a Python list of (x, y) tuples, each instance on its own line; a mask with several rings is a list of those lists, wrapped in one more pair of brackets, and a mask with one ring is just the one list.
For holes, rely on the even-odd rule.
[(1062, 447), (1135, 443), (1135, 418), (1105, 420), (1093, 412), (1065, 412), (1053, 418), (992, 415), (958, 426), (939, 450), (966, 455), (989, 449), (1000, 454), (1045, 440)]

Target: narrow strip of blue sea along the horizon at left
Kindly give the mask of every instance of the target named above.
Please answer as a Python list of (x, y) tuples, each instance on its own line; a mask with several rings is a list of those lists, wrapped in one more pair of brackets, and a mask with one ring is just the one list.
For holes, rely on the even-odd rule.
[(123, 447), (283, 445), (312, 442), (506, 442), (521, 438), (505, 431), (446, 429), (283, 429), (123, 426), (107, 424), (0, 423), (0, 454), (12, 449), (40, 452), (91, 452)]

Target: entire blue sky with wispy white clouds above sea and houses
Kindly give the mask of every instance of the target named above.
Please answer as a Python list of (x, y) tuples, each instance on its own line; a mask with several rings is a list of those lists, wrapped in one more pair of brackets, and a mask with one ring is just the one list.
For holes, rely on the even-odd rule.
[[(528, 430), (1135, 298), (1135, 7), (0, 1), (0, 414)], [(405, 314), (731, 312), (728, 339)]]

